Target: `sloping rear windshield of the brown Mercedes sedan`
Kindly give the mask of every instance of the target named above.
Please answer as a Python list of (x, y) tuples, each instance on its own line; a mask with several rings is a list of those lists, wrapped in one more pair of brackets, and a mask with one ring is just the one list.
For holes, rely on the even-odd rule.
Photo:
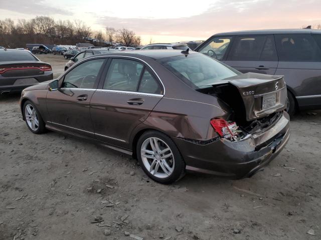
[(184, 82), (188, 84), (192, 82), (192, 85), (197, 87), (206, 87), (240, 74), (237, 70), (204, 54), (171, 56), (157, 61)]

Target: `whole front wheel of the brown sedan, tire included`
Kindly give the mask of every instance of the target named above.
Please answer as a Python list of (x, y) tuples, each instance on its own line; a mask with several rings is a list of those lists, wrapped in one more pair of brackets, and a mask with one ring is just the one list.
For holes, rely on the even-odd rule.
[[(27, 107), (29, 107), (29, 109), (27, 109)], [(35, 115), (32, 114), (33, 110), (35, 110)], [(23, 108), (23, 114), (24, 114), (24, 118), (25, 118), (25, 121), (26, 121), (26, 124), (27, 124), (29, 130), (31, 130), (33, 133), (41, 134), (46, 131), (46, 125), (40, 115), (40, 112), (36, 108), (35, 104), (33, 102), (31, 102), (30, 100), (27, 100), (25, 102), (24, 108)], [(34, 121), (35, 128), (33, 128), (32, 120), (29, 121), (28, 119), (33, 118), (35, 120), (35, 117), (38, 120), (38, 127), (37, 127), (37, 121)]]

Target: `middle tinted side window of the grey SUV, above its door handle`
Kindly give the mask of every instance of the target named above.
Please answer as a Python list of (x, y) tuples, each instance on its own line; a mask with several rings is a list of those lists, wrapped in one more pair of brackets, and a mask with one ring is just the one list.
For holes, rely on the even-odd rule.
[(273, 35), (235, 37), (228, 60), (277, 61)]

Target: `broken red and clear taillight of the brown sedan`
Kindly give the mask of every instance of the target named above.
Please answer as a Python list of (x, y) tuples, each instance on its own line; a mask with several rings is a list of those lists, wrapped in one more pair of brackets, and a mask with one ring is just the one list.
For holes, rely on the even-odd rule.
[(235, 121), (227, 122), (222, 118), (216, 118), (211, 120), (211, 125), (220, 136), (225, 138), (233, 138), (239, 133)]

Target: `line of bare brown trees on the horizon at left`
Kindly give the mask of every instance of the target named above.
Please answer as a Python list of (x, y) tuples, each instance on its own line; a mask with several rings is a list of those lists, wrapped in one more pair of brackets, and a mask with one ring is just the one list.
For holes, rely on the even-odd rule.
[[(10, 18), (0, 20), (0, 46), (8, 48), (25, 47), (26, 43), (75, 45), (86, 42), (84, 37), (119, 42), (126, 46), (140, 45), (141, 41), (132, 30), (107, 26), (105, 31), (97, 31), (82, 20), (55, 20), (49, 16), (19, 19), (17, 22)], [(106, 45), (103, 42), (92, 43)]]

